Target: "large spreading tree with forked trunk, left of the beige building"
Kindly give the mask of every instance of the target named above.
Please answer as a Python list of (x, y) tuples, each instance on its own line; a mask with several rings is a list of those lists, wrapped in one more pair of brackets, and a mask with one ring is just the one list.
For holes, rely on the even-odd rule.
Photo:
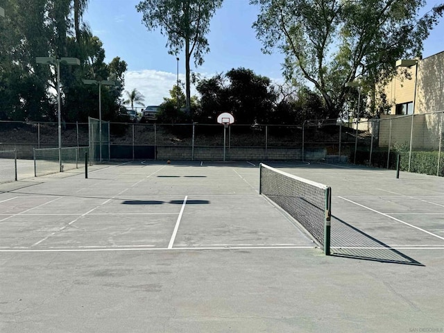
[(284, 76), (302, 76), (336, 118), (360, 78), (367, 87), (394, 73), (395, 60), (420, 56), (422, 41), (443, 14), (436, 6), (416, 19), (422, 0), (250, 0), (260, 6), (253, 24), (264, 51), (286, 56)]

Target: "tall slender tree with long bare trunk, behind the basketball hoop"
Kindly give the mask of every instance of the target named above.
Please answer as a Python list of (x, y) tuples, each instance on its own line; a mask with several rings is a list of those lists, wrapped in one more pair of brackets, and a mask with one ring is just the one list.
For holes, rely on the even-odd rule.
[(167, 35), (169, 54), (178, 55), (185, 46), (185, 90), (187, 112), (190, 113), (190, 68), (189, 61), (194, 57), (194, 65), (203, 64), (203, 54), (210, 48), (205, 37), (210, 32), (210, 19), (223, 0), (144, 0), (136, 6), (143, 13), (142, 22), (149, 31), (160, 28)]

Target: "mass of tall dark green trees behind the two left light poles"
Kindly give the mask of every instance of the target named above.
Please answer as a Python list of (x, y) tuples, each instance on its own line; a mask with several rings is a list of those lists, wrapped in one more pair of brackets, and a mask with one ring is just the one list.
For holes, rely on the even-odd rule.
[[(126, 62), (105, 64), (105, 51), (82, 15), (87, 0), (4, 0), (0, 19), (0, 119), (56, 121), (57, 76), (37, 56), (75, 57), (80, 66), (60, 66), (61, 116), (66, 122), (98, 117), (99, 89), (83, 78), (117, 80), (123, 84)], [(74, 19), (73, 19), (74, 17)], [(102, 87), (102, 113), (108, 119), (119, 108), (121, 86)]]

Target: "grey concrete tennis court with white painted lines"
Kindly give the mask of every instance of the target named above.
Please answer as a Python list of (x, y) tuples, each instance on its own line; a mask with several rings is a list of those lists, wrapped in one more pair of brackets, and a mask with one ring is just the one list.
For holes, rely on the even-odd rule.
[(266, 164), (332, 188), (331, 255), (259, 194), (258, 162), (0, 185), (0, 331), (443, 332), (443, 178)]

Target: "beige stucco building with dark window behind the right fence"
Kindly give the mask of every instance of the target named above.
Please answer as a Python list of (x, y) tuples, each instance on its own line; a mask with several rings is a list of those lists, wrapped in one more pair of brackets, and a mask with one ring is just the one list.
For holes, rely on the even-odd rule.
[[(411, 77), (405, 78), (403, 70)], [(379, 121), (379, 146), (437, 149), (443, 136), (444, 51), (398, 71), (384, 87), (390, 108)]]

